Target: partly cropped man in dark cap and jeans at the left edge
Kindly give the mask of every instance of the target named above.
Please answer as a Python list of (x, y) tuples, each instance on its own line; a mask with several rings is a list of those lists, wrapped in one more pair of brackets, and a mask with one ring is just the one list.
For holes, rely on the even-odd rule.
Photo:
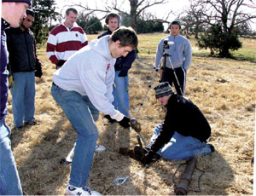
[(7, 1), (2, 0), (1, 15), (1, 61), (0, 61), (0, 195), (22, 195), (20, 177), (10, 146), (10, 130), (5, 124), (8, 100), (8, 55), (6, 50), (6, 36), (4, 29), (9, 23), (12, 27), (19, 27), (26, 17), (26, 9), (31, 5), (30, 0)]

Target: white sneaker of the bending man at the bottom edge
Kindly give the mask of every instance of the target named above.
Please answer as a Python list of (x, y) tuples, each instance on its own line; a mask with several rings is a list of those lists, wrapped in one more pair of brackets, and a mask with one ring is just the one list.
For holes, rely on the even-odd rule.
[(101, 195), (100, 193), (91, 190), (89, 187), (74, 187), (72, 185), (68, 185), (65, 195)]

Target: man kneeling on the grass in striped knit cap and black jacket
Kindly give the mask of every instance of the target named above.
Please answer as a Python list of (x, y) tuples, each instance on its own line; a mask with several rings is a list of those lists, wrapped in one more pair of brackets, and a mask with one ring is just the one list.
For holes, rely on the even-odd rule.
[[(189, 159), (204, 156), (214, 151), (207, 140), (211, 135), (211, 127), (200, 109), (184, 96), (173, 92), (168, 82), (160, 83), (154, 88), (155, 97), (166, 107), (166, 118), (163, 124), (154, 129), (154, 135), (148, 147), (145, 147), (143, 164), (150, 164), (155, 153), (167, 160)], [(140, 147), (134, 148), (140, 153)]]

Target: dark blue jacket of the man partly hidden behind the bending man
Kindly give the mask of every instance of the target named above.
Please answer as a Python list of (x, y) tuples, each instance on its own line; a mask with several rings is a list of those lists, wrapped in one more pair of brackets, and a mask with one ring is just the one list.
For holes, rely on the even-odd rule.
[[(108, 29), (107, 32), (103, 32), (98, 38), (101, 38), (103, 36), (106, 35), (111, 35), (112, 32), (110, 32), (110, 30)], [(130, 53), (128, 53), (128, 55), (121, 56), (119, 58), (116, 59), (116, 62), (114, 64), (114, 70), (115, 71), (122, 71), (122, 72), (128, 72), (128, 70), (131, 68), (131, 64), (133, 63), (133, 61), (135, 61), (136, 59), (136, 52), (135, 50), (131, 50)]]

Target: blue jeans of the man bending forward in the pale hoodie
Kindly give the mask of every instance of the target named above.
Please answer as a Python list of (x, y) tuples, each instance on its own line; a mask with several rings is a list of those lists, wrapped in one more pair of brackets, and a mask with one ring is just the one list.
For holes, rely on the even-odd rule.
[(87, 185), (98, 138), (95, 122), (99, 112), (91, 104), (88, 96), (79, 95), (77, 92), (52, 85), (51, 95), (78, 133), (69, 184), (84, 187)]

